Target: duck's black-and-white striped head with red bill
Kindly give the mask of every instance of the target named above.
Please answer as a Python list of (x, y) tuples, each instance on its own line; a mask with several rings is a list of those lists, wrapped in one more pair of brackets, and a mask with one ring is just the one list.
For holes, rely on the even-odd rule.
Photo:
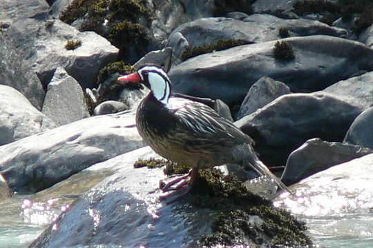
[(125, 83), (142, 83), (161, 103), (167, 104), (171, 94), (171, 81), (166, 72), (155, 65), (144, 65), (137, 72), (120, 76), (118, 81)]

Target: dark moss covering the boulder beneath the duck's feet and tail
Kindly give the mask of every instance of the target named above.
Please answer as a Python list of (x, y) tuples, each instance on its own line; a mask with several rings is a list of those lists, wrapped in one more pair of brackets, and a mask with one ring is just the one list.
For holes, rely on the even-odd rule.
[[(150, 158), (139, 160), (134, 166), (152, 168), (169, 163)], [(175, 171), (179, 173), (182, 169)], [(218, 169), (201, 169), (193, 189), (183, 200), (213, 212), (211, 234), (195, 240), (198, 247), (312, 247), (305, 234), (305, 223), (289, 211), (274, 207), (270, 200), (251, 193), (236, 176), (224, 176)]]

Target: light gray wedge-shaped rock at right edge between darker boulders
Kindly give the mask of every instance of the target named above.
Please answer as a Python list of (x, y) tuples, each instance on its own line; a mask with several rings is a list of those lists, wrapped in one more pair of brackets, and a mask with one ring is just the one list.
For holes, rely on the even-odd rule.
[(334, 83), (323, 92), (336, 94), (346, 101), (368, 108), (373, 105), (373, 72)]

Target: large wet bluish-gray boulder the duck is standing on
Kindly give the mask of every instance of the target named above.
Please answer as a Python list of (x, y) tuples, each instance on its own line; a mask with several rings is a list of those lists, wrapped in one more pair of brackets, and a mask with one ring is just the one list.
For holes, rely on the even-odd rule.
[[(164, 179), (162, 169), (133, 166), (138, 158), (149, 157), (160, 158), (149, 147), (144, 147), (94, 165), (96, 169), (119, 169), (113, 176), (109, 176), (77, 198), (68, 211), (61, 214), (32, 242), (30, 248), (218, 247), (221, 242), (229, 240), (237, 240), (236, 242), (250, 247), (267, 247), (274, 239), (280, 240), (278, 236), (283, 233), (284, 225), (291, 225), (291, 231), (288, 232), (290, 235), (286, 236), (288, 242), (294, 242), (289, 238), (291, 234), (293, 237), (294, 234), (300, 235), (303, 240), (308, 239), (301, 231), (304, 224), (291, 218), (289, 214), (286, 215), (284, 211), (274, 209), (269, 201), (258, 196), (253, 196), (250, 203), (242, 206), (242, 209), (249, 209), (246, 211), (251, 214), (237, 209), (227, 210), (234, 204), (231, 202), (204, 205), (203, 197), (208, 196), (202, 195), (187, 194), (164, 204), (159, 200), (162, 194), (159, 180)], [(245, 201), (244, 198), (239, 199)], [(207, 200), (216, 199), (211, 197)], [(202, 204), (198, 205), (201, 202)], [(222, 211), (219, 211), (220, 208)], [(236, 216), (230, 214), (231, 212)], [(216, 221), (218, 218), (219, 222)], [(217, 225), (222, 226), (220, 234), (216, 234), (219, 228), (213, 228)], [(234, 228), (231, 228), (232, 226)], [(273, 227), (278, 231), (273, 232)], [(272, 231), (263, 231), (265, 228)], [(204, 240), (211, 243), (216, 240), (218, 244), (202, 245), (199, 242), (202, 235), (209, 236)], [(224, 237), (224, 240), (221, 237)], [(311, 243), (310, 240), (308, 242)], [(311, 244), (294, 247), (311, 247)]]

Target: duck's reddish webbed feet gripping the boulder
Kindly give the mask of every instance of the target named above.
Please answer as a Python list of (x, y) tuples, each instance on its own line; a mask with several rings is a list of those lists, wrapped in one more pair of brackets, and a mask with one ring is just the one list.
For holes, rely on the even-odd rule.
[(169, 176), (165, 180), (160, 180), (160, 189), (164, 192), (164, 194), (160, 196), (160, 199), (171, 202), (180, 196), (184, 196), (184, 194), (187, 194), (193, 187), (197, 176), (198, 169), (191, 169), (186, 175)]

